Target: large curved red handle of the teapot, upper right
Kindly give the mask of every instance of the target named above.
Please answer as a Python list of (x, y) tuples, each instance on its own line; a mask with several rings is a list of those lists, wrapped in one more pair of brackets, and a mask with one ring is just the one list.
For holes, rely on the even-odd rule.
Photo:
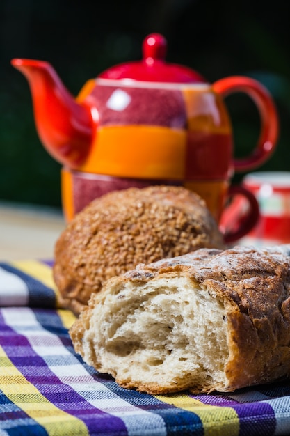
[(231, 93), (246, 93), (255, 102), (261, 119), (259, 140), (252, 154), (234, 159), (234, 170), (248, 171), (263, 164), (275, 150), (279, 133), (277, 110), (271, 94), (259, 81), (244, 76), (220, 79), (213, 84), (213, 89), (223, 97)]

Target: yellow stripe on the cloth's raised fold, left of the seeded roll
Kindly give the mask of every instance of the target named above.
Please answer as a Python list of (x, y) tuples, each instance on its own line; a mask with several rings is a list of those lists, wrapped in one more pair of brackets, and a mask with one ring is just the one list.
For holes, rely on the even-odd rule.
[(17, 260), (11, 263), (15, 268), (29, 274), (33, 279), (41, 281), (45, 286), (54, 290), (56, 295), (56, 306), (61, 307), (60, 293), (54, 283), (54, 277), (52, 275), (52, 268), (49, 265), (39, 262), (38, 260)]

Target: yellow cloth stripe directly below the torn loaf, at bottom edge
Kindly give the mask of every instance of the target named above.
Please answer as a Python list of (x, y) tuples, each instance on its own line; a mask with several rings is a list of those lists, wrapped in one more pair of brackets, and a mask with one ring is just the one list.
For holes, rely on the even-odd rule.
[(163, 403), (175, 405), (199, 416), (204, 436), (239, 435), (239, 416), (232, 407), (219, 407), (202, 403), (184, 394), (154, 395)]

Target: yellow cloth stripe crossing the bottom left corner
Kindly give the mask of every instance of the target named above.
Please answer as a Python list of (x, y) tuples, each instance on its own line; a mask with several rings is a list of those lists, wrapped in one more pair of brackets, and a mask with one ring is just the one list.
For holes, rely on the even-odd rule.
[(88, 436), (86, 424), (58, 409), (13, 366), (0, 346), (0, 389), (17, 407), (47, 430), (48, 435)]

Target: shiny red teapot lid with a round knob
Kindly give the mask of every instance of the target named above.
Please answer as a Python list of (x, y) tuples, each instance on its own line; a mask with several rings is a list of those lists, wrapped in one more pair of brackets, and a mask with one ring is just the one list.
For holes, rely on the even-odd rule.
[(167, 83), (205, 83), (206, 80), (191, 68), (165, 61), (167, 42), (159, 33), (151, 33), (143, 40), (143, 59), (120, 63), (102, 72), (99, 78)]

